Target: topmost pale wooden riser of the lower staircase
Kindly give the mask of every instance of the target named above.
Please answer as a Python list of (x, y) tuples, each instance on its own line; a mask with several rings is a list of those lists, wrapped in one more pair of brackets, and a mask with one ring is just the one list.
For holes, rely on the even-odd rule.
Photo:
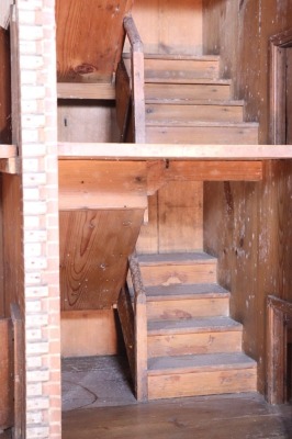
[(216, 264), (212, 262), (183, 266), (144, 266), (141, 269), (145, 286), (216, 282)]

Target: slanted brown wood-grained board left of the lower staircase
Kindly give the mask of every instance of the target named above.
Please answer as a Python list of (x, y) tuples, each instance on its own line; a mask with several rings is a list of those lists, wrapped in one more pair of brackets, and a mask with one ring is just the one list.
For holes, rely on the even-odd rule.
[(60, 212), (61, 309), (116, 303), (143, 215), (143, 210)]

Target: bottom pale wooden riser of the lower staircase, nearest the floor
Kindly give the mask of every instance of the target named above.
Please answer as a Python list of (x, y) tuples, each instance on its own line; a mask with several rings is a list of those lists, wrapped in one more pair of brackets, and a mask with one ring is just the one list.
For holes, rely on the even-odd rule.
[(256, 391), (256, 368), (148, 376), (149, 399)]

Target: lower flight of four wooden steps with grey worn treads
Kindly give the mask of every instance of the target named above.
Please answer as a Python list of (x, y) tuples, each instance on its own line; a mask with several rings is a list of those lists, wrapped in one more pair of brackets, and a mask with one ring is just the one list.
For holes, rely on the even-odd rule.
[(257, 363), (242, 351), (243, 326), (229, 317), (229, 293), (216, 283), (216, 258), (144, 255), (138, 263), (148, 399), (256, 391)]

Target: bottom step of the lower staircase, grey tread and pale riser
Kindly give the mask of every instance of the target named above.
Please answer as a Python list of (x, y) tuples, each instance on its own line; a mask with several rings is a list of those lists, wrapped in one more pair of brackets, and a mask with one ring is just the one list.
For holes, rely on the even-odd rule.
[(240, 352), (148, 360), (148, 398), (257, 391), (257, 363)]

